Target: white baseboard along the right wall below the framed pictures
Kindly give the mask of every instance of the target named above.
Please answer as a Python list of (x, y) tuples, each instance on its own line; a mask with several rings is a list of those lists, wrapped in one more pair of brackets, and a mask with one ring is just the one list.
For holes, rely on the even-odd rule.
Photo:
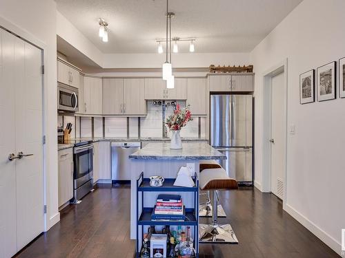
[[(324, 232), (324, 230), (319, 228), (317, 225), (311, 222), (308, 218), (304, 217), (304, 215), (296, 211), (289, 204), (285, 205), (284, 210), (288, 214), (293, 216), (297, 220), (297, 222), (302, 224), (309, 231), (311, 231), (311, 233), (313, 233), (316, 237), (318, 237), (321, 241), (323, 241), (327, 246), (329, 246), (335, 252), (337, 252), (338, 255), (342, 255), (342, 245), (338, 243), (336, 239), (328, 235), (326, 232)], [(340, 229), (339, 229), (339, 235), (340, 235)]]

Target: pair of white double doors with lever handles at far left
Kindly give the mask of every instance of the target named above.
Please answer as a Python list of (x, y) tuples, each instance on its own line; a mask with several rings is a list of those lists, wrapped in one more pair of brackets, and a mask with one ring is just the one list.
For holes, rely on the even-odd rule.
[[(0, 215), (0, 245), (6, 245), (8, 257), (13, 244), (17, 252), (43, 232), (43, 88), (41, 50), (4, 30), (1, 39), (0, 119), (6, 127), (0, 133), (0, 205), (6, 209)], [(32, 155), (8, 160), (9, 153), (20, 151)]]

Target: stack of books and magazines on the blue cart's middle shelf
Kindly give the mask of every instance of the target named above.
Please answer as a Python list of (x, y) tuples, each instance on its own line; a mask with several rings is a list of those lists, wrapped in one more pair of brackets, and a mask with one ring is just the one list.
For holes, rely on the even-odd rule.
[(186, 213), (184, 211), (181, 195), (158, 195), (151, 219), (184, 221), (186, 219)]

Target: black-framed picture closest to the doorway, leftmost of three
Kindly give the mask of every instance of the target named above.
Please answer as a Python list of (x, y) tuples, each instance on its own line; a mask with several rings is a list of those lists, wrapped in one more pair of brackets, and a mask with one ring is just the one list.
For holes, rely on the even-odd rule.
[(315, 70), (312, 69), (299, 75), (299, 98), (301, 104), (314, 102), (314, 77)]

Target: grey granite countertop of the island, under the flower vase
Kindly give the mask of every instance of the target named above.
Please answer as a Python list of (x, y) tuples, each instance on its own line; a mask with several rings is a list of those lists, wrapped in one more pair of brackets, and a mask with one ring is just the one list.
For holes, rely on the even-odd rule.
[(149, 143), (143, 149), (129, 155), (132, 160), (226, 160), (204, 142), (182, 143), (182, 149), (170, 149), (170, 143)]

